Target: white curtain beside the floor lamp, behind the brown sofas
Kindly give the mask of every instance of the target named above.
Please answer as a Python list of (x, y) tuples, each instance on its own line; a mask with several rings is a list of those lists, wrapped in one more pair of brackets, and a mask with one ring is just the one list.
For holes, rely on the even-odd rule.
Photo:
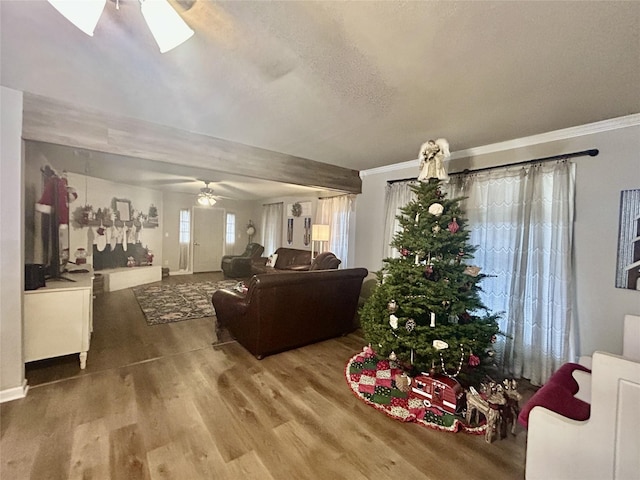
[(329, 225), (328, 251), (342, 260), (340, 267), (347, 268), (349, 255), (349, 221), (353, 208), (353, 195), (321, 198), (316, 209), (316, 224)]

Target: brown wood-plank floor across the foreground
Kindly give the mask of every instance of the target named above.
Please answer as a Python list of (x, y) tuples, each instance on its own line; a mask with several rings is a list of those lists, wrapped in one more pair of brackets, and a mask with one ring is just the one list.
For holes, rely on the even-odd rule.
[(358, 334), (263, 360), (214, 340), (212, 319), (149, 327), (130, 290), (98, 297), (86, 370), (77, 356), (29, 364), (27, 397), (0, 405), (0, 477), (524, 477), (520, 427), (488, 444), (356, 399), (344, 368)]

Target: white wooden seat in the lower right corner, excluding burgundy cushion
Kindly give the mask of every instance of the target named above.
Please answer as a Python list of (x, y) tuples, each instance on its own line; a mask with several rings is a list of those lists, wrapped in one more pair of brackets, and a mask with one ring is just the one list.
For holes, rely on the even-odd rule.
[(574, 372), (587, 420), (541, 406), (529, 413), (527, 480), (640, 479), (639, 316), (625, 317), (623, 355), (595, 352), (590, 368)]

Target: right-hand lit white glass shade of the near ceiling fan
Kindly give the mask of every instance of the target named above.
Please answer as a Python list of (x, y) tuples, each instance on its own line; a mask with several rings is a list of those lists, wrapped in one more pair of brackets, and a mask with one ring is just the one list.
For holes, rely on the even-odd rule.
[(168, 52), (193, 35), (193, 30), (167, 0), (140, 0), (140, 9), (160, 53)]

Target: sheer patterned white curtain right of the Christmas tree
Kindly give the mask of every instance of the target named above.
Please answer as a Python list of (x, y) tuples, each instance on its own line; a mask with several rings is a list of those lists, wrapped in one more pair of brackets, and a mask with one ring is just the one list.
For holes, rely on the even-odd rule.
[(467, 196), (483, 301), (501, 319), (505, 374), (543, 384), (574, 355), (575, 165), (543, 163), (453, 177)]

